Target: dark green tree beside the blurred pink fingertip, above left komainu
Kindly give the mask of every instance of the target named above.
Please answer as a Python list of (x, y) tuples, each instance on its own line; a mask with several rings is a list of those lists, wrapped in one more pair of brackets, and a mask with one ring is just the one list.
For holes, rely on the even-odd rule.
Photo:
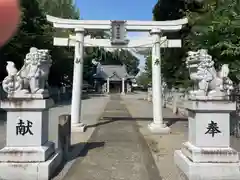
[[(21, 22), (16, 35), (0, 50), (1, 54), (1, 75), (6, 75), (5, 62), (14, 61), (17, 68), (23, 64), (26, 53), (31, 46), (37, 48), (50, 48), (51, 37), (46, 34), (49, 29), (45, 14), (39, 8), (36, 0), (21, 0)], [(51, 31), (50, 31), (51, 32)]]

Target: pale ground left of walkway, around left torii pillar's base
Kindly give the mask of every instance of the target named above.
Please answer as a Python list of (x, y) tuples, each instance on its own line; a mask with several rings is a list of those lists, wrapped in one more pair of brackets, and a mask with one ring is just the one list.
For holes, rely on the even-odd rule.
[[(69, 152), (68, 162), (64, 165), (64, 167), (57, 172), (52, 178), (53, 180), (61, 180), (68, 170), (72, 167), (74, 162), (76, 161), (76, 157), (79, 156), (79, 153), (82, 151), (89, 138), (91, 137), (95, 124), (98, 122), (99, 117), (101, 116), (106, 104), (109, 101), (109, 96), (90, 96), (89, 99), (84, 99), (82, 101), (82, 122), (87, 125), (86, 132), (72, 132), (71, 133), (71, 150)], [(56, 125), (57, 117), (61, 114), (70, 114), (71, 106), (57, 106), (50, 111), (50, 117), (52, 122), (49, 127), (49, 139), (55, 143), (57, 139), (57, 129), (54, 131), (54, 126)], [(51, 128), (52, 127), (52, 128)]]

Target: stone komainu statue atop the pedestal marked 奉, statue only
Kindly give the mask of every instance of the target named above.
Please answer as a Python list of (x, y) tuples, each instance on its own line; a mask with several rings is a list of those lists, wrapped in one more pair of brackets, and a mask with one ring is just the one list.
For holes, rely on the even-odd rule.
[(233, 90), (233, 83), (228, 77), (228, 64), (219, 72), (206, 49), (189, 51), (186, 61), (190, 79), (195, 82), (196, 90), (190, 91), (190, 97), (196, 99), (226, 99)]

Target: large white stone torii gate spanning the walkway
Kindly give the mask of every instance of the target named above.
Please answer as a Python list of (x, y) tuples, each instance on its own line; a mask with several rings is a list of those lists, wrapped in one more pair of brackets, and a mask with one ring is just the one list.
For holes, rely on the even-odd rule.
[[(69, 38), (54, 37), (55, 46), (74, 46), (74, 72), (71, 106), (72, 131), (84, 131), (81, 122), (81, 96), (83, 82), (84, 46), (105, 48), (152, 48), (152, 91), (153, 91), (153, 122), (149, 129), (156, 133), (168, 133), (170, 128), (163, 123), (162, 88), (161, 88), (161, 56), (160, 48), (181, 47), (181, 40), (168, 40), (162, 37), (163, 32), (174, 32), (188, 23), (186, 18), (173, 21), (110, 21), (110, 20), (73, 20), (47, 15), (47, 20), (55, 28), (74, 29), (76, 35)], [(85, 30), (111, 30), (112, 39), (84, 38)], [(127, 31), (150, 32), (151, 37), (128, 41)]]

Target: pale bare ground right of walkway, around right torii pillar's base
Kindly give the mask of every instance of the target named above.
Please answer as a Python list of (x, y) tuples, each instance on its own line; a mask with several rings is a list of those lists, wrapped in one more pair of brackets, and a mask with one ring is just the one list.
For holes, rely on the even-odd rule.
[(139, 131), (145, 138), (152, 152), (162, 180), (179, 180), (180, 173), (174, 163), (174, 151), (181, 149), (187, 141), (188, 121), (186, 118), (174, 115), (168, 108), (163, 108), (163, 119), (171, 128), (171, 133), (165, 135), (153, 134), (147, 128), (153, 120), (152, 103), (142, 100), (141, 93), (126, 95), (126, 104), (132, 117), (139, 125)]

